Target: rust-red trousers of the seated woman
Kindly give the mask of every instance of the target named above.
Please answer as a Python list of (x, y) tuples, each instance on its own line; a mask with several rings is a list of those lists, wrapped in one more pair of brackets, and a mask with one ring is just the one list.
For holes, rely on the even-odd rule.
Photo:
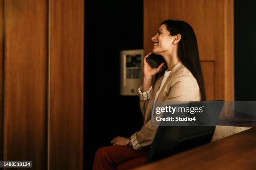
[(150, 145), (140, 150), (132, 146), (106, 146), (97, 150), (93, 170), (129, 170), (146, 162)]

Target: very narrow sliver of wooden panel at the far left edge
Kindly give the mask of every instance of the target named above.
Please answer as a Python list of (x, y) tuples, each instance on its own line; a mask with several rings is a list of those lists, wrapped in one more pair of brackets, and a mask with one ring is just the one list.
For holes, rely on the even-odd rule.
[(3, 55), (4, 55), (4, 0), (0, 0), (0, 161), (3, 161)]

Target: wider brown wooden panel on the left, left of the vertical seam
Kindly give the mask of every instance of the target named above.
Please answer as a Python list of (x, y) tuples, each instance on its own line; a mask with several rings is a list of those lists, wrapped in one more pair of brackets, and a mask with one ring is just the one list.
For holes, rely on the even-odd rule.
[(4, 160), (47, 168), (47, 0), (5, 0)]

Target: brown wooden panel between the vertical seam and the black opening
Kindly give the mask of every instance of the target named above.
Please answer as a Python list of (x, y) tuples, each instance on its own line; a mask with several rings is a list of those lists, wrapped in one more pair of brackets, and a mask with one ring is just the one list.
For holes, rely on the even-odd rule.
[(82, 170), (84, 1), (50, 0), (49, 167)]

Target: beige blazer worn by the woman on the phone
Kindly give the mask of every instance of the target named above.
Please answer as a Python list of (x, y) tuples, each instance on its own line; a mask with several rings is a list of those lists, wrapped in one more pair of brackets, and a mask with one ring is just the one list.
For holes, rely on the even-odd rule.
[[(144, 125), (136, 133), (136, 140), (141, 146), (151, 145), (158, 126), (151, 126), (151, 106), (154, 104), (156, 92), (159, 90), (164, 76), (158, 78), (153, 85), (150, 99), (140, 100)], [(197, 80), (182, 62), (178, 62), (162, 87), (157, 101), (199, 101), (200, 89)]]

